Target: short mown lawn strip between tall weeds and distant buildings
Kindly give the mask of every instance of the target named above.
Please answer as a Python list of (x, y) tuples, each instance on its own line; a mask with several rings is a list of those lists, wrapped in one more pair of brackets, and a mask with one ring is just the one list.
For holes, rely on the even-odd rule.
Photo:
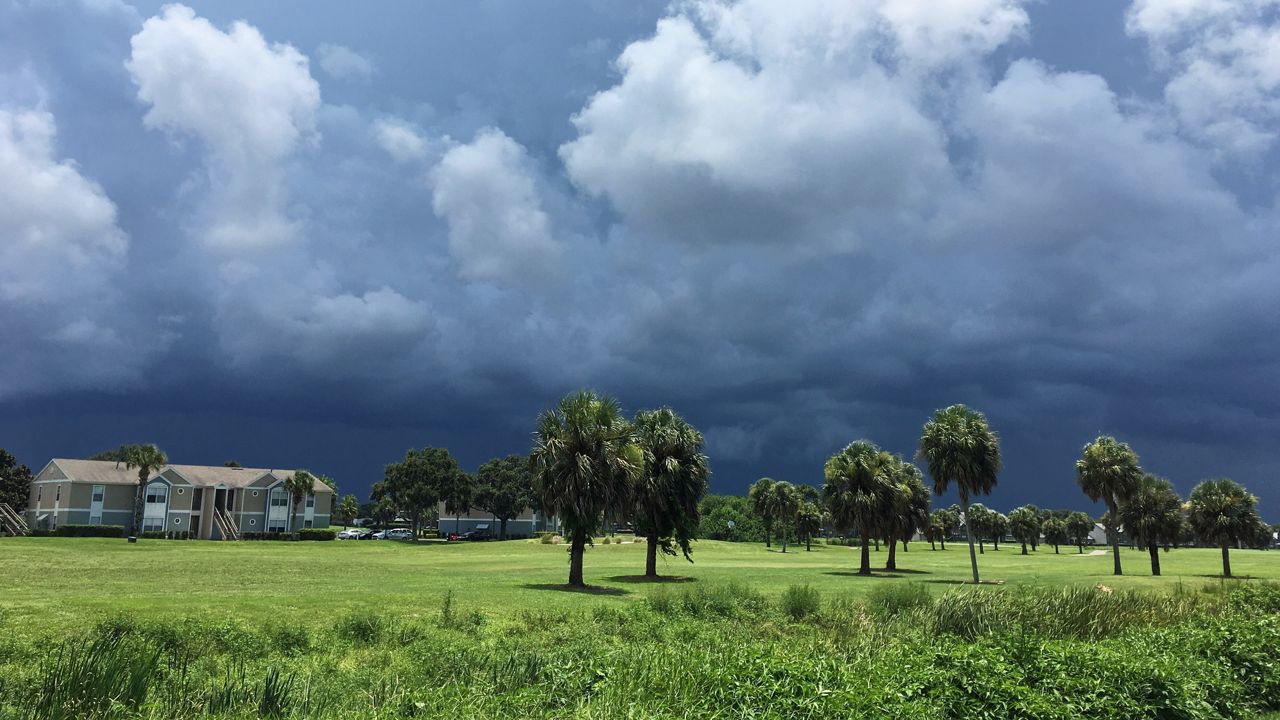
[[(1087, 552), (1093, 548), (1085, 548)], [(883, 566), (886, 552), (872, 555)], [(1161, 553), (1164, 577), (1152, 578), (1146, 552), (1124, 550), (1123, 578), (1111, 575), (1110, 555), (1075, 555), (1052, 547), (1021, 555), (1018, 546), (979, 556), (983, 580), (1005, 585), (1105, 584), (1114, 588), (1196, 589), (1217, 583), (1215, 550)], [(968, 578), (963, 544), (931, 551), (911, 543), (899, 552), (899, 571), (860, 578), (856, 550), (792, 547), (786, 555), (760, 544), (699, 542), (694, 564), (659, 560), (659, 573), (681, 583), (739, 583), (768, 597), (809, 584), (823, 596), (863, 594), (883, 583), (922, 583), (941, 593)], [(1280, 579), (1280, 552), (1231, 551), (1242, 579)], [(0, 541), (0, 607), (27, 628), (95, 623), (105, 615), (234, 616), (325, 623), (351, 610), (420, 616), (439, 611), (448, 591), (467, 610), (492, 616), (521, 609), (590, 607), (634, 602), (652, 592), (639, 578), (643, 544), (596, 544), (588, 551), (588, 592), (562, 584), (564, 546), (526, 541), (484, 543), (179, 542), (95, 538), (6, 538)], [(22, 625), (22, 623), (19, 623)]]

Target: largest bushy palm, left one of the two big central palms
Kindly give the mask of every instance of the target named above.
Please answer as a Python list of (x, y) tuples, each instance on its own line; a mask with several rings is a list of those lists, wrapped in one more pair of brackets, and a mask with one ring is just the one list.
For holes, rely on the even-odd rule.
[(557, 515), (570, 537), (568, 584), (584, 587), (586, 543), (605, 511), (625, 507), (644, 473), (644, 450), (617, 400), (580, 391), (538, 416), (529, 462), (543, 511)]

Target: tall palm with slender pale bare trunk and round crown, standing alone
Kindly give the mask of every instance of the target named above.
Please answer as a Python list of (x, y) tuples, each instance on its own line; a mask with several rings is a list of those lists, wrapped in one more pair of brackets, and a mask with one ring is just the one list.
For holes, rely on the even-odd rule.
[[(987, 424), (982, 413), (964, 405), (938, 410), (924, 424), (920, 448), (916, 454), (929, 468), (933, 492), (942, 495), (952, 484), (960, 493), (960, 511), (969, 521), (969, 498), (988, 495), (996, 487), (1000, 474), (1000, 438)], [(973, 547), (973, 529), (969, 536), (969, 564), (973, 582), (978, 583), (978, 553)]]

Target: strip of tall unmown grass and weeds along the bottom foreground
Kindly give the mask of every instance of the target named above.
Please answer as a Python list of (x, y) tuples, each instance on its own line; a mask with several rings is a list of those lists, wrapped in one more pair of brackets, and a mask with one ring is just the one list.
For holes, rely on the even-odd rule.
[[(1251, 717), (1280, 710), (1280, 587), (741, 584), (486, 619), (452, 594), (297, 632), (111, 619), (0, 655), (0, 719)], [(888, 589), (892, 588), (892, 589)], [(476, 621), (475, 619), (480, 620)], [(0, 634), (10, 628), (0, 626)], [(38, 662), (35, 659), (44, 657)]]

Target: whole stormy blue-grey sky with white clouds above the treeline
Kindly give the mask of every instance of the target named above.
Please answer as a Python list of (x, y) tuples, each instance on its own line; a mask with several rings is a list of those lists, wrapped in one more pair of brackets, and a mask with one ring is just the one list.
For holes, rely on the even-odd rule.
[[(1098, 434), (1280, 520), (1280, 0), (0, 0), (0, 447), (364, 496), (672, 406), (716, 492)], [(943, 498), (950, 502), (948, 498)]]

